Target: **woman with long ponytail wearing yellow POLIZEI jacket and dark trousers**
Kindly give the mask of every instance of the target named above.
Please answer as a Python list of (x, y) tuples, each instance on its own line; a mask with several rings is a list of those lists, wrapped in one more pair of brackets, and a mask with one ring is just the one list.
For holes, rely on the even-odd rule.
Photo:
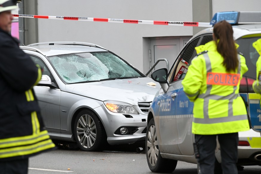
[(248, 68), (237, 47), (232, 26), (226, 21), (216, 23), (213, 41), (195, 48), (199, 54), (182, 81), (184, 92), (194, 102), (192, 133), (201, 174), (214, 173), (216, 137), (223, 174), (238, 173), (238, 132), (249, 130), (249, 124), (239, 95), (239, 83)]

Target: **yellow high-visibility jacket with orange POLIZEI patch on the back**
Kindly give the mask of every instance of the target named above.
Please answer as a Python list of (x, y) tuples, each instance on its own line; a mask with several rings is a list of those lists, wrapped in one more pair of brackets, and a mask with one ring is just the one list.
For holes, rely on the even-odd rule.
[(238, 54), (236, 72), (226, 72), (214, 41), (195, 49), (199, 54), (182, 81), (184, 92), (194, 102), (192, 133), (212, 135), (249, 130), (247, 111), (239, 95), (240, 80), (248, 71), (245, 58)]

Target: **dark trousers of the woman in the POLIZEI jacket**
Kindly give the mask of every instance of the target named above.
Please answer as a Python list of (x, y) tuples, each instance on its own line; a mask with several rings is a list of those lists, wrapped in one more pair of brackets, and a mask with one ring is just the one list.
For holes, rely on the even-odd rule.
[(220, 144), (223, 174), (238, 174), (236, 167), (238, 133), (218, 135), (195, 134), (195, 142), (199, 151), (197, 160), (200, 174), (214, 174), (216, 136), (218, 136)]

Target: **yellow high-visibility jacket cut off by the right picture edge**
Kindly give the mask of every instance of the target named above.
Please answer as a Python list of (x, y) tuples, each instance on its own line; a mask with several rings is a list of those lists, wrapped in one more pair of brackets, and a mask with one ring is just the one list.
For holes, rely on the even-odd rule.
[(253, 47), (257, 50), (257, 52), (260, 56), (256, 63), (257, 80), (254, 81), (252, 87), (253, 87), (255, 93), (261, 94), (261, 39), (258, 39), (256, 42), (254, 42)]

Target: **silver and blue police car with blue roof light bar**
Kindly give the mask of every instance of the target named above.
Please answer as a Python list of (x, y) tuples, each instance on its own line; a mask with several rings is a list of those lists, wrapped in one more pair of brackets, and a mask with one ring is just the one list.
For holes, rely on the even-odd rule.
[[(261, 38), (261, 12), (222, 12), (213, 16), (210, 24), (226, 20), (233, 25), (234, 39), (239, 44), (248, 66), (240, 82), (240, 95), (245, 100), (251, 129), (239, 132), (238, 168), (244, 165), (261, 166), (261, 108), (260, 95), (254, 93), (256, 62), (259, 54), (252, 46)], [(248, 20), (248, 21), (246, 21)], [(186, 75), (195, 47), (213, 40), (213, 28), (207, 28), (193, 36), (179, 53), (172, 68), (158, 69), (152, 78), (160, 82), (161, 89), (149, 108), (146, 132), (146, 157), (152, 172), (173, 172), (177, 161), (197, 164), (191, 133), (193, 102), (183, 91), (181, 81)], [(216, 168), (221, 170), (220, 148), (216, 147)], [(198, 167), (199, 170), (199, 167)]]

